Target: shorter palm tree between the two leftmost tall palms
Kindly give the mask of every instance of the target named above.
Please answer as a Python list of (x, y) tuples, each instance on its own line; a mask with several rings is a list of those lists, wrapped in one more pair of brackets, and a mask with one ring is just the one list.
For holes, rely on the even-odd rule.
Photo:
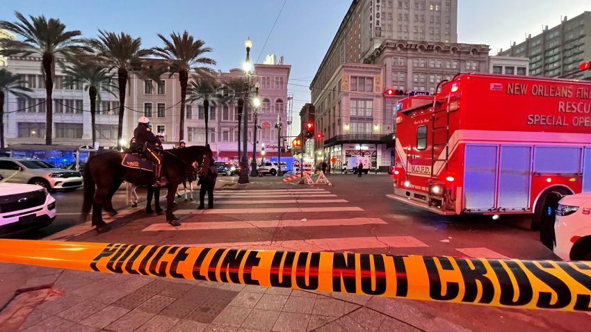
[(94, 61), (80, 61), (70, 60), (72, 65), (68, 66), (64, 70), (66, 75), (64, 79), (65, 84), (81, 83), (84, 86), (84, 90), (88, 90), (88, 97), (90, 98), (90, 126), (92, 127), (92, 146), (95, 146), (97, 142), (97, 127), (96, 127), (96, 115), (97, 115), (97, 96), (100, 99), (99, 88), (103, 88), (106, 92), (115, 94), (113, 92), (115, 87), (111, 84), (113, 80), (113, 74), (108, 71), (102, 65), (97, 65)]

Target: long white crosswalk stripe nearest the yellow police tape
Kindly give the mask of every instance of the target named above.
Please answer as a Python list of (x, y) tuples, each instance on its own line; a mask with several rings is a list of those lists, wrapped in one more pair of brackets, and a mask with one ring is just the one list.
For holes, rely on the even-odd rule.
[(261, 242), (227, 242), (176, 244), (184, 247), (209, 247), (232, 249), (275, 249), (291, 251), (335, 251), (367, 248), (414, 248), (429, 247), (412, 236), (371, 236), (364, 238), (324, 238), (309, 240), (261, 241)]

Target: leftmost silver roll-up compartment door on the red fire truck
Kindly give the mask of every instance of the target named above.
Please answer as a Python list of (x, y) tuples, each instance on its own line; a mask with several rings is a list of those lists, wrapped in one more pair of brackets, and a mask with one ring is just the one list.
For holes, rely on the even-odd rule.
[(466, 144), (464, 160), (464, 210), (494, 208), (496, 189), (496, 145)]

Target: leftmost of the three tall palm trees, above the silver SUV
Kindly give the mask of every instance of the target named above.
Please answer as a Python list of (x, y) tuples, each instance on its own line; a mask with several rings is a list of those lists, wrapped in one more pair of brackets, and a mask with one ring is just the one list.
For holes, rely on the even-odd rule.
[(0, 55), (41, 56), (46, 92), (45, 144), (49, 145), (53, 135), (54, 108), (51, 93), (54, 90), (56, 61), (79, 51), (81, 40), (76, 37), (82, 33), (78, 30), (66, 31), (65, 25), (59, 19), (48, 20), (44, 16), (29, 16), (29, 20), (19, 12), (15, 12), (15, 16), (17, 22), (0, 21), (0, 28), (15, 33), (24, 40), (0, 39)]

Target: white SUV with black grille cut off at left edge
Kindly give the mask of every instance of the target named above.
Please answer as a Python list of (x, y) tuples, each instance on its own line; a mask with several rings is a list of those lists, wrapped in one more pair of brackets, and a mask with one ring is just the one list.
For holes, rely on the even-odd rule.
[(47, 189), (40, 185), (0, 183), (0, 235), (40, 229), (54, 219), (56, 200)]

